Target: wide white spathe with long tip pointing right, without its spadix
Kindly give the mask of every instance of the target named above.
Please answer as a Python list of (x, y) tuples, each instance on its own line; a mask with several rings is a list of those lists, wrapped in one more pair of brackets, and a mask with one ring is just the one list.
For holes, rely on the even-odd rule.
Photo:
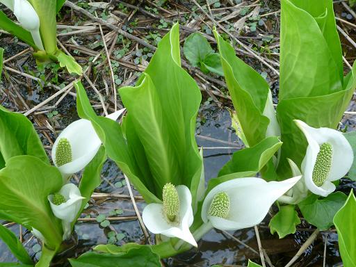
[[(237, 230), (258, 225), (266, 217), (268, 209), (278, 197), (289, 191), (300, 179), (265, 181), (261, 178), (236, 178), (211, 189), (202, 206), (202, 220), (220, 230)], [(229, 196), (229, 214), (226, 218), (209, 216), (213, 197), (225, 192)]]

